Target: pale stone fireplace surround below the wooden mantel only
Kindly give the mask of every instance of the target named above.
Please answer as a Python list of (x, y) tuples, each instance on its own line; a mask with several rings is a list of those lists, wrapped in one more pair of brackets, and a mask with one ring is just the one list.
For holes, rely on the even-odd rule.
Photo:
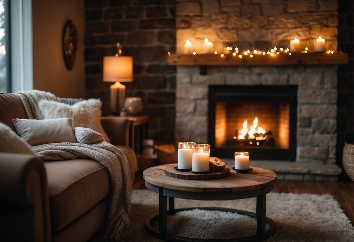
[(176, 140), (208, 141), (209, 85), (297, 85), (297, 162), (335, 164), (337, 66), (177, 68)]

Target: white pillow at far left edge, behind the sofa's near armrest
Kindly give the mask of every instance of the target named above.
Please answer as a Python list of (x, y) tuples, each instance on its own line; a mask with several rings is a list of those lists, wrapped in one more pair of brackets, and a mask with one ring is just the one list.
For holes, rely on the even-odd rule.
[(0, 152), (35, 155), (31, 146), (2, 122), (0, 122)]

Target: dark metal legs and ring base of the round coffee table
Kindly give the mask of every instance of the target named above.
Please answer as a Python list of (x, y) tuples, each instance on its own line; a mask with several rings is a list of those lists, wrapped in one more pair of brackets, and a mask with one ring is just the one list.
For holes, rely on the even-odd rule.
[[(226, 199), (241, 199), (241, 198), (247, 198), (247, 197), (252, 197), (255, 194), (242, 194), (239, 193), (238, 195), (231, 195), (231, 197), (226, 196), (223, 198), (223, 196), (212, 196), (214, 199), (211, 199), (210, 197), (203, 197), (201, 194), (193, 194), (189, 192), (181, 192), (181, 191), (176, 191), (176, 190), (171, 190), (167, 188), (162, 188), (162, 187), (157, 187), (154, 186), (148, 182), (145, 181), (145, 186), (149, 188), (150, 190), (153, 190), (156, 193), (159, 193), (159, 213), (154, 214), (152, 217), (148, 218), (145, 222), (145, 228), (149, 232), (150, 235), (159, 238), (160, 240), (164, 241), (171, 241), (171, 242), (177, 242), (177, 241), (190, 241), (190, 242), (198, 242), (198, 241), (215, 241), (215, 239), (201, 239), (201, 238), (188, 238), (188, 237), (179, 237), (179, 236), (174, 236), (171, 234), (167, 234), (167, 215), (173, 215), (176, 212), (179, 211), (185, 211), (185, 210), (192, 210), (195, 208), (199, 207), (193, 207), (193, 208), (181, 208), (181, 209), (175, 209), (175, 197), (179, 198), (184, 198), (184, 199), (197, 199), (197, 200), (226, 200)], [(242, 211), (242, 210), (235, 210), (231, 208), (219, 208), (219, 207), (200, 207), (199, 209), (204, 209), (204, 210), (218, 210), (218, 211), (225, 211), (225, 212), (233, 212), (233, 213), (239, 213), (243, 215), (247, 215), (253, 218), (256, 218), (257, 220), (257, 229), (256, 229), (256, 234), (247, 236), (247, 237), (239, 237), (239, 238), (228, 238), (228, 239), (223, 239), (223, 240), (218, 240), (218, 241), (247, 241), (247, 242), (253, 242), (253, 241), (263, 241), (268, 239), (271, 235), (274, 234), (275, 232), (275, 223), (272, 219), (265, 217), (265, 197), (266, 194), (269, 193), (271, 190), (273, 190), (274, 185), (266, 188), (261, 191), (261, 194), (256, 194), (255, 196), (257, 197), (257, 211), (256, 213), (252, 212), (247, 212), (247, 211)], [(169, 210), (167, 210), (167, 198), (169, 201)], [(216, 199), (215, 199), (216, 198)], [(152, 223), (154, 222), (159, 222), (159, 230), (156, 230), (153, 228)], [(270, 224), (270, 228), (268, 230), (265, 230), (265, 224), (268, 223)]]

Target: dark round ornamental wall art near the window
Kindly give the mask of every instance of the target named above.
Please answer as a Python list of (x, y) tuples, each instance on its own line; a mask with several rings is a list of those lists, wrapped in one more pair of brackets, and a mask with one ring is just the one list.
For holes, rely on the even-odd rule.
[(68, 20), (65, 23), (62, 40), (65, 67), (68, 71), (71, 71), (74, 67), (78, 50), (78, 32), (72, 20)]

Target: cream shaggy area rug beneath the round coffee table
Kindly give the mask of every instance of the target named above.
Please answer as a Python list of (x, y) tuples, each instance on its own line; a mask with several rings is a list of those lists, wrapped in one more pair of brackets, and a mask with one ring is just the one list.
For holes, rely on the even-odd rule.
[[(256, 198), (225, 201), (175, 199), (175, 208), (226, 207), (256, 212)], [(158, 213), (159, 194), (133, 190), (129, 214), (131, 234), (119, 241), (159, 241), (145, 230), (145, 220)], [(354, 241), (354, 229), (332, 195), (269, 193), (266, 216), (276, 223), (267, 241)], [(154, 224), (158, 228), (158, 223)], [(269, 226), (266, 226), (266, 229)], [(236, 238), (256, 233), (256, 220), (231, 212), (190, 210), (167, 216), (169, 234), (194, 238)], [(101, 242), (97, 232), (91, 242)]]

